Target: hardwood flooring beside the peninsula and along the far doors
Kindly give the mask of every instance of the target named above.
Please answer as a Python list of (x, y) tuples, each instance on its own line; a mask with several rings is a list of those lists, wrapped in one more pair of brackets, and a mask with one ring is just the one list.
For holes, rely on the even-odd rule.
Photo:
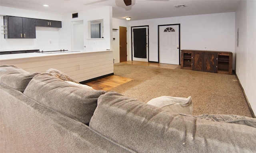
[[(166, 69), (176, 69), (180, 65), (171, 65), (171, 64), (162, 64), (162, 63), (148, 63), (148, 62), (140, 62), (140, 61), (126, 61), (122, 62), (126, 64), (132, 64), (132, 65), (142, 65), (142, 66), (148, 66), (148, 67), (160, 67), (160, 68), (166, 68)], [(101, 78), (92, 82), (86, 83), (86, 85), (91, 86), (92, 88), (96, 90), (110, 90), (116, 86), (119, 86), (121, 84), (124, 84), (126, 82), (131, 81), (132, 78), (126, 78), (126, 77), (120, 77), (117, 75), (112, 75), (109, 77)]]

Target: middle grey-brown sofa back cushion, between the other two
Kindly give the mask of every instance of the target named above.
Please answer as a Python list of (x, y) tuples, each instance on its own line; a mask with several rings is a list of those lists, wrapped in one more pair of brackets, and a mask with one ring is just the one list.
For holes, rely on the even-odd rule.
[(98, 97), (105, 92), (80, 88), (49, 73), (43, 73), (29, 82), (24, 94), (47, 108), (88, 124)]

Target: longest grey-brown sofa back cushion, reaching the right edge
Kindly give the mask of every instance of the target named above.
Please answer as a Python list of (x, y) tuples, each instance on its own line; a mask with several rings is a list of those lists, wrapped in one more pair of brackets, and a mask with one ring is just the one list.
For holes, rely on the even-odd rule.
[(256, 150), (256, 128), (177, 114), (116, 92), (107, 92), (98, 98), (89, 126), (136, 152)]

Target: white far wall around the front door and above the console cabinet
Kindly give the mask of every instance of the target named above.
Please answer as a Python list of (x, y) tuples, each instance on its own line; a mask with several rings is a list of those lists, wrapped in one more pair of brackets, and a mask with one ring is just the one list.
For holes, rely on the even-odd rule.
[(149, 61), (158, 61), (158, 25), (166, 24), (180, 24), (180, 49), (235, 51), (235, 12), (130, 21), (149, 26)]

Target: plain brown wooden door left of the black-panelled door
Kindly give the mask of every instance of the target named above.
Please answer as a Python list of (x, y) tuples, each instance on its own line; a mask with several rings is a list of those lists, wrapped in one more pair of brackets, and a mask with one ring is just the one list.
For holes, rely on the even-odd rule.
[(127, 61), (127, 30), (126, 27), (119, 27), (119, 54), (120, 62)]

